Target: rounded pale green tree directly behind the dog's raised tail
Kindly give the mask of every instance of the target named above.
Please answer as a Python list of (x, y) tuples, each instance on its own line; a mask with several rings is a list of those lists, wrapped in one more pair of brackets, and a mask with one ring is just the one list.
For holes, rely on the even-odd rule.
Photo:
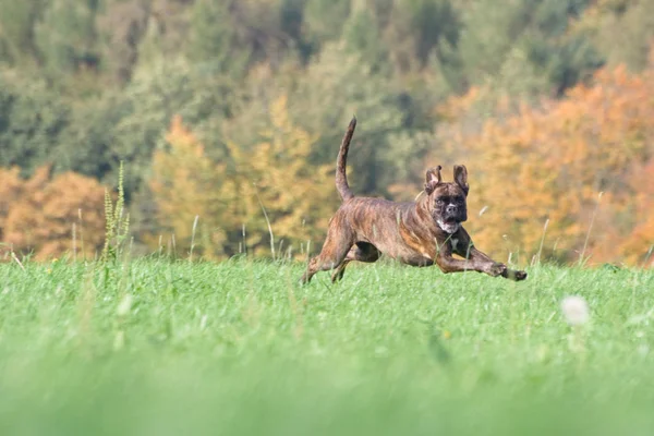
[(395, 178), (395, 168), (402, 165), (390, 149), (391, 133), (404, 129), (402, 95), (383, 76), (352, 55), (343, 44), (324, 47), (320, 58), (308, 65), (289, 97), (289, 110), (305, 130), (320, 134), (314, 158), (334, 162), (343, 129), (352, 114), (359, 126), (352, 145), (350, 162), (358, 192), (385, 192)]

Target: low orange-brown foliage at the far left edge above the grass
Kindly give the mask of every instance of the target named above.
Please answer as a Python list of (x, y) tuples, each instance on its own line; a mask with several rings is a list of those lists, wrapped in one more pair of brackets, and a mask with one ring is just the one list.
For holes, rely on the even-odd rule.
[(0, 235), (15, 252), (33, 252), (37, 259), (73, 251), (94, 255), (105, 235), (104, 193), (95, 180), (73, 172), (55, 178), (38, 168), (21, 180), (16, 168), (0, 170)]

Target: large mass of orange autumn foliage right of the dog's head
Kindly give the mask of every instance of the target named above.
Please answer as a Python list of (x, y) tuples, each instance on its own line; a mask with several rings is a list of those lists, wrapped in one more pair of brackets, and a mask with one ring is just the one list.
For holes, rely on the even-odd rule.
[(480, 247), (530, 261), (549, 220), (544, 255), (570, 261), (593, 221), (591, 262), (642, 264), (654, 244), (654, 64), (641, 75), (602, 70), (591, 86), (476, 131), (461, 102), (470, 108), (474, 99), (443, 109), (458, 116), (444, 131), (447, 146), (469, 153), (469, 227)]

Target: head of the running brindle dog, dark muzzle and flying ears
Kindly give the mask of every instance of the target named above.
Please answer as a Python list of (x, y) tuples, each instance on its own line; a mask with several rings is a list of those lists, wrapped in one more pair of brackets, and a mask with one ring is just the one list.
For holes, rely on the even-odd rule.
[(427, 170), (425, 192), (427, 207), (434, 221), (447, 233), (459, 230), (461, 222), (468, 220), (468, 170), (462, 165), (455, 166), (455, 182), (444, 182), (441, 167)]

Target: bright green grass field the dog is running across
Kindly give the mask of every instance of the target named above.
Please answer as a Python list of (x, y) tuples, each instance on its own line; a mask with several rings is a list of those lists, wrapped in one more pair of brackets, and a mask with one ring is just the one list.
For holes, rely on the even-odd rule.
[(654, 433), (653, 271), (24, 268), (0, 265), (1, 435)]

